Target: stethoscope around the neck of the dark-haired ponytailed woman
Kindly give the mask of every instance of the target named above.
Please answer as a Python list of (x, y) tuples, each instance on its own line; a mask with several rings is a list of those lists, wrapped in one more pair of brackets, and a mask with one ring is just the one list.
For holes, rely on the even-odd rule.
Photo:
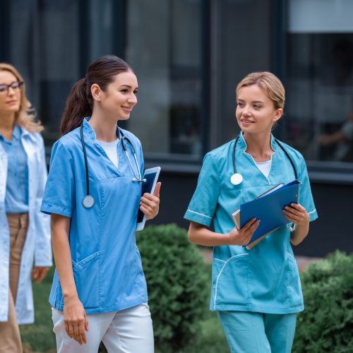
[[(133, 147), (133, 144), (131, 143), (131, 140), (129, 140), (124, 133), (120, 130), (120, 128), (117, 126), (118, 129), (118, 138), (121, 139), (121, 145), (123, 146), (123, 150), (126, 155), (126, 159), (128, 160), (128, 165), (130, 166), (131, 171), (133, 172), (133, 179), (132, 181), (135, 181), (136, 183), (145, 183), (146, 179), (142, 178), (140, 167), (138, 167), (138, 160), (136, 158), (136, 150)], [(87, 153), (86, 153), (86, 148), (85, 148), (85, 139), (83, 138), (83, 123), (80, 125), (80, 136), (81, 136), (81, 143), (82, 143), (82, 148), (83, 148), (83, 156), (85, 157), (85, 172), (86, 172), (86, 196), (83, 198), (82, 205), (84, 208), (91, 208), (95, 204), (95, 198), (90, 195), (90, 180), (88, 179), (88, 160), (87, 160)], [(126, 142), (130, 145), (131, 152), (133, 154), (133, 159), (135, 160), (136, 163), (136, 168), (138, 170), (138, 175), (136, 175), (135, 171), (133, 170), (133, 166), (131, 164), (130, 157), (128, 157), (128, 150), (126, 148)]]

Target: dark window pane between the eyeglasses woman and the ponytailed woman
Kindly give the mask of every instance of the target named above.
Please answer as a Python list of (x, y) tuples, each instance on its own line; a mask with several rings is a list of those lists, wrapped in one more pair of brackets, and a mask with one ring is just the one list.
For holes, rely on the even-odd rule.
[(59, 136), (68, 92), (79, 76), (79, 1), (11, 0), (9, 61), (23, 73), (46, 144)]

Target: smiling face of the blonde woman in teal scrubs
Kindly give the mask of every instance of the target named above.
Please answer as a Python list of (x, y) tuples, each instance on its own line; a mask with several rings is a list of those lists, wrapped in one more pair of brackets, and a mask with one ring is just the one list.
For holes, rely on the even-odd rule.
[(282, 109), (275, 109), (265, 90), (254, 84), (239, 90), (235, 115), (244, 133), (270, 133), (282, 116)]

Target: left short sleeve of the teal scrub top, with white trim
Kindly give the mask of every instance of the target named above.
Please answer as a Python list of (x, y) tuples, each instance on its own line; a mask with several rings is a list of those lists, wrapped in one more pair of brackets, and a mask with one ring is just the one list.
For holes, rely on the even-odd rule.
[(198, 176), (196, 191), (184, 215), (186, 220), (210, 226), (220, 194), (217, 164), (213, 155), (208, 153), (203, 159), (203, 166)]

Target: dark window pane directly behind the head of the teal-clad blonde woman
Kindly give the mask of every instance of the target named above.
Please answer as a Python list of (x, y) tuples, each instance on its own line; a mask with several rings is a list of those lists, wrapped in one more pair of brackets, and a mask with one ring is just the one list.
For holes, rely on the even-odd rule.
[(248, 73), (270, 69), (270, 6), (263, 0), (213, 4), (212, 146), (239, 133), (235, 119), (237, 84)]

